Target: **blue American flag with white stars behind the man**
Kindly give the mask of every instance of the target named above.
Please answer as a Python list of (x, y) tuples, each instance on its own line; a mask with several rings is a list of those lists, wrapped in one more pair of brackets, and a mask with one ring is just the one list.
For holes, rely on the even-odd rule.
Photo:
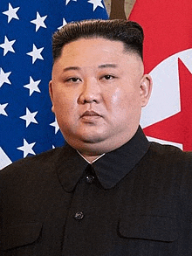
[(103, 1), (1, 0), (0, 169), (65, 143), (48, 92), (51, 35), (92, 18), (108, 18)]

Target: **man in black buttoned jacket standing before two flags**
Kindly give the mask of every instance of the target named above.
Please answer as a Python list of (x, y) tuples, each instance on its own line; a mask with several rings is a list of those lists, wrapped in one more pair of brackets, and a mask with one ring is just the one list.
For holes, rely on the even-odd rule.
[(192, 155), (147, 142), (141, 26), (53, 36), (52, 111), (67, 145), (1, 172), (1, 255), (192, 255)]

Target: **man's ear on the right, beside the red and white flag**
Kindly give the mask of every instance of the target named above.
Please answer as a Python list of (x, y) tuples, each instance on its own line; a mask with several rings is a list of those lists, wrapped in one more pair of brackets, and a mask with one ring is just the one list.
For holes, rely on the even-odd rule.
[(151, 91), (152, 91), (152, 78), (148, 74), (144, 74), (141, 79), (141, 107), (145, 107), (147, 105), (147, 102), (150, 98)]

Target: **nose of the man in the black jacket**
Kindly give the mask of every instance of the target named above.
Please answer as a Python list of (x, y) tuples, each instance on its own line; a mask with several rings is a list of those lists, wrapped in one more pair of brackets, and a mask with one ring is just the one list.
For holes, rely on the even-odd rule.
[(101, 92), (99, 82), (96, 79), (85, 80), (79, 94), (79, 104), (99, 103)]

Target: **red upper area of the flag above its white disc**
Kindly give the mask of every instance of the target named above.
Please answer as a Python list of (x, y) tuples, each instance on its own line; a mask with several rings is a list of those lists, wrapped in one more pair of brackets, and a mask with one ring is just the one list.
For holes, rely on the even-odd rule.
[(192, 47), (191, 0), (137, 0), (129, 19), (144, 29), (147, 73), (168, 56)]

